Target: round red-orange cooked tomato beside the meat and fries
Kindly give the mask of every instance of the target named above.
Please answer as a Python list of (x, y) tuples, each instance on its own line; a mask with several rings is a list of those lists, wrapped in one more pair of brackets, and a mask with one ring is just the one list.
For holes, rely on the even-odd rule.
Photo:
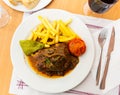
[(80, 38), (74, 38), (68, 43), (68, 48), (74, 56), (80, 56), (86, 51), (86, 44)]

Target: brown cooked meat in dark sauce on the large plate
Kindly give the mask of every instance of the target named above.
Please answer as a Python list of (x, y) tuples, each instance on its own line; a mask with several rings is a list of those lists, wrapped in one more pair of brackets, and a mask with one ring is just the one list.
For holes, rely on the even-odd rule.
[(63, 76), (79, 62), (78, 57), (70, 54), (67, 43), (59, 43), (28, 56), (38, 71), (49, 76)]

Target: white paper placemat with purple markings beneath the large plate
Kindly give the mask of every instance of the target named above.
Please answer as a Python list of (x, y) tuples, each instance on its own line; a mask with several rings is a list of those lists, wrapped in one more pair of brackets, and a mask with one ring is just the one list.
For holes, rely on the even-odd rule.
[[(31, 15), (31, 14), (30, 13), (24, 13), (23, 21), (29, 15)], [(110, 27), (113, 26), (113, 21), (112, 20), (107, 20), (107, 19), (83, 16), (83, 15), (79, 15), (79, 14), (74, 14), (74, 15), (79, 17), (89, 28), (89, 30), (92, 33), (92, 36), (94, 38), (94, 41), (95, 41), (96, 55), (99, 55), (100, 47), (99, 47), (98, 42), (97, 42), (98, 34), (103, 27), (107, 27), (108, 31), (110, 32), (111, 31)], [(119, 20), (117, 22), (119, 22)], [(118, 25), (120, 26), (120, 23)], [(118, 29), (118, 30), (120, 31), (120, 29)], [(118, 31), (118, 30), (116, 29), (116, 31)], [(119, 39), (117, 39), (117, 40), (119, 40)], [(72, 89), (70, 91), (66, 91), (65, 93), (59, 93), (59, 94), (55, 94), (55, 95), (76, 95), (76, 94), (77, 95), (93, 95), (93, 94), (95, 94), (95, 95), (96, 94), (100, 94), (100, 95), (103, 95), (103, 94), (104, 95), (120, 95), (120, 88), (119, 88), (120, 76), (117, 75), (118, 76), (118, 78), (117, 78), (117, 76), (114, 75), (118, 70), (120, 70), (119, 68), (117, 68), (117, 70), (116, 70), (116, 66), (118, 64), (117, 63), (113, 64), (112, 67), (114, 67), (114, 68), (111, 67), (110, 68), (111, 71), (109, 70), (109, 74), (108, 74), (108, 76), (110, 78), (112, 78), (113, 75), (114, 75), (114, 78), (113, 78), (114, 81), (111, 82), (111, 80), (109, 80), (109, 78), (108, 78), (106, 89), (105, 90), (100, 90), (98, 88), (98, 86), (95, 85), (95, 74), (96, 74), (96, 70), (97, 70), (96, 67), (98, 65), (98, 61), (96, 61), (96, 60), (99, 60), (99, 56), (96, 56), (93, 68), (92, 68), (90, 74), (88, 75), (88, 77), (84, 80), (84, 82), (82, 84), (80, 84), (79, 86), (75, 87), (74, 89)], [(116, 60), (120, 62), (119, 59), (116, 59)], [(112, 73), (112, 75), (110, 75), (110, 73)], [(16, 94), (16, 95), (54, 95), (54, 94), (41, 93), (39, 91), (36, 91), (36, 90), (30, 88), (27, 84), (25, 84), (19, 78), (19, 76), (15, 75), (14, 70), (13, 70), (13, 74), (12, 74), (12, 78), (11, 78), (11, 84), (10, 84), (9, 92), (11, 94)]]

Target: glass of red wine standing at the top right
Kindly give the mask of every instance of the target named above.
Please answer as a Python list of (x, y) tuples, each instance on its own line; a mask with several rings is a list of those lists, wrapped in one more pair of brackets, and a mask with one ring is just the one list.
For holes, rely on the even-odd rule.
[(88, 0), (84, 6), (84, 13), (102, 14), (108, 11), (118, 0)]

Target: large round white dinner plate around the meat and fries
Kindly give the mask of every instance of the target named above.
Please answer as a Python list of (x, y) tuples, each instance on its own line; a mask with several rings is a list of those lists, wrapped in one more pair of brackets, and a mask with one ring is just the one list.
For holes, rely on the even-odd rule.
[[(85, 41), (87, 50), (80, 57), (80, 62), (70, 74), (64, 77), (50, 79), (35, 74), (24, 60), (19, 41), (25, 39), (31, 29), (40, 23), (38, 15), (47, 17), (49, 20), (62, 19), (64, 21), (72, 18), (71, 28)], [(73, 14), (57, 9), (44, 9), (33, 15), (19, 25), (14, 33), (11, 43), (11, 59), (16, 74), (30, 87), (47, 93), (58, 93), (72, 89), (80, 84), (88, 75), (94, 61), (94, 43), (86, 25)]]

